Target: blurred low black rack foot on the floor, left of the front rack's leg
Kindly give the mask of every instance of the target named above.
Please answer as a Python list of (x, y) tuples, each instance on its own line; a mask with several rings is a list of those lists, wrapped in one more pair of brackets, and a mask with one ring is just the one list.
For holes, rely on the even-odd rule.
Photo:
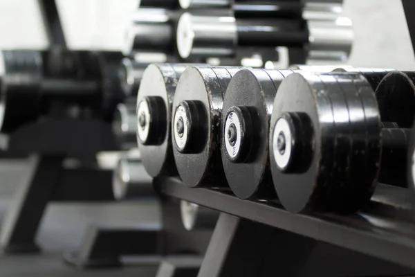
[[(89, 226), (80, 249), (64, 254), (75, 267), (118, 267), (120, 256), (156, 256), (160, 227)], [(143, 257), (144, 258), (144, 257)]]

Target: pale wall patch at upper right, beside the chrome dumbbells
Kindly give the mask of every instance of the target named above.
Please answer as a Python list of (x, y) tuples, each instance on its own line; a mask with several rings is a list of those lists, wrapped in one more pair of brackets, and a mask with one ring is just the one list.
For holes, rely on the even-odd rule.
[(349, 64), (415, 70), (415, 57), (400, 0), (344, 0), (356, 33)]

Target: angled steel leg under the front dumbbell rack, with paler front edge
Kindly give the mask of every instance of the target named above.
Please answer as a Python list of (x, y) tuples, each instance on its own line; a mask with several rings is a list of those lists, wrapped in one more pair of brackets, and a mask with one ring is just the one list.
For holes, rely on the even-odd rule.
[[(297, 276), (313, 251), (315, 240), (298, 235), (293, 240), (291, 236), (264, 224), (221, 213), (198, 276), (274, 276), (275, 272), (281, 276)], [(288, 241), (295, 251), (286, 248)], [(275, 247), (279, 251), (273, 251)], [(284, 247), (284, 257), (281, 247)], [(268, 262), (267, 256), (273, 258), (273, 265), (282, 261), (278, 262), (277, 271), (275, 266), (264, 265)]]

